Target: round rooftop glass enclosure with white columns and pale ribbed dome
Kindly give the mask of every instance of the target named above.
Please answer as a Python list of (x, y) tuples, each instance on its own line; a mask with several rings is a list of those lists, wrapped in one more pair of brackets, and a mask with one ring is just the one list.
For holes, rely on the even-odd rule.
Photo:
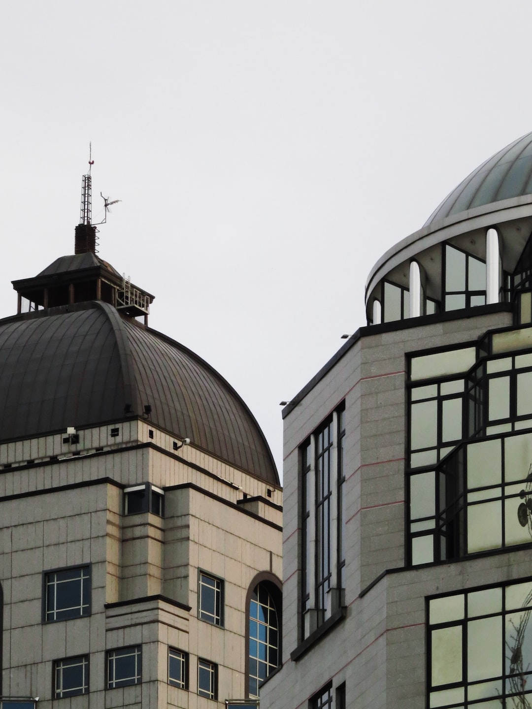
[(366, 284), (368, 324), (510, 301), (532, 288), (531, 235), (532, 133), (480, 165), (379, 259)]

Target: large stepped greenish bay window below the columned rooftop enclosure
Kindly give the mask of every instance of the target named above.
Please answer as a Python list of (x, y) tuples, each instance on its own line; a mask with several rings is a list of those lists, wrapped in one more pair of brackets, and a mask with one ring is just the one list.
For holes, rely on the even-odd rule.
[[(469, 348), (411, 359), (412, 379), (443, 375), (410, 384), (412, 564), (532, 542), (532, 446), (523, 433), (532, 428), (532, 352), (504, 352), (516, 347), (514, 333), (481, 342), (465, 379), (450, 370), (465, 364)], [(489, 357), (490, 350), (504, 355)]]

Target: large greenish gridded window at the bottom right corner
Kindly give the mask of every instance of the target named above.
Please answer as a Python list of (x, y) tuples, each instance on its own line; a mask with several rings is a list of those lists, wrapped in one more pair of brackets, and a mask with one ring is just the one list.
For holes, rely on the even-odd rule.
[(530, 706), (531, 611), (532, 581), (431, 598), (429, 706)]

